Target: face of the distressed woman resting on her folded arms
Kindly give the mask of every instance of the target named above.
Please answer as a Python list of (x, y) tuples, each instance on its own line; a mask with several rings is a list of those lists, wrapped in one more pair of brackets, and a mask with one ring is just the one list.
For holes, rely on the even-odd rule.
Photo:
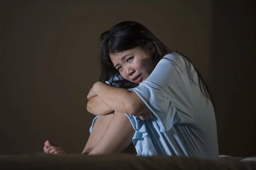
[(110, 54), (110, 59), (123, 78), (137, 84), (148, 78), (154, 69), (152, 57), (139, 47)]

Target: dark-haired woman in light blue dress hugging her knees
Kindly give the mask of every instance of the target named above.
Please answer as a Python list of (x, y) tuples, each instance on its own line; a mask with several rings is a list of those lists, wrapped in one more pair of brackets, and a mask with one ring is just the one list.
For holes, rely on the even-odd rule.
[[(104, 116), (83, 153), (120, 152), (132, 140), (138, 156), (218, 158), (212, 99), (192, 63), (134, 21), (113, 26), (101, 40), (101, 81), (87, 95), (87, 109)], [(103, 83), (113, 76), (112, 86)]]

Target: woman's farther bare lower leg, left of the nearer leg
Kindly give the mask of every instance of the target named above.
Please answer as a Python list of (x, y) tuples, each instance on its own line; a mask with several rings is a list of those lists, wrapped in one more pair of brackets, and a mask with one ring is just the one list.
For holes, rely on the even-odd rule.
[(93, 125), (92, 132), (88, 138), (88, 141), (82, 152), (83, 154), (90, 153), (94, 147), (99, 143), (100, 139), (104, 135), (105, 131), (108, 129), (108, 126), (113, 118), (114, 113), (108, 115), (100, 116), (96, 119), (95, 124)]

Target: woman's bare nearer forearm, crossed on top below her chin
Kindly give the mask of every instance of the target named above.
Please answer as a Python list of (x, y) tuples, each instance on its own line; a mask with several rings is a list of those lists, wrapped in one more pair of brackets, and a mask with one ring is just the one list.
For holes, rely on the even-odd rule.
[(99, 99), (112, 110), (139, 115), (148, 111), (148, 107), (134, 91), (112, 87), (100, 81), (93, 85), (93, 91)]

